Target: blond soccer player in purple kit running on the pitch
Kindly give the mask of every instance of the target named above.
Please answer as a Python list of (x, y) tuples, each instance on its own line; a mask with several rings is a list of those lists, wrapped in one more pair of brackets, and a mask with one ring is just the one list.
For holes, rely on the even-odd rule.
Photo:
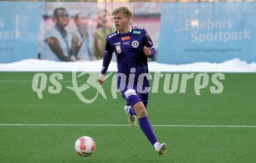
[[(148, 104), (148, 57), (154, 57), (155, 49), (144, 28), (131, 27), (132, 13), (122, 6), (112, 13), (116, 30), (106, 38), (105, 54), (98, 82), (104, 82), (112, 53), (116, 53), (118, 63), (118, 88), (126, 100), (125, 111), (131, 126), (136, 125), (137, 118), (141, 130), (159, 155), (166, 150), (165, 143), (159, 143), (148, 121), (146, 107)], [(125, 77), (125, 78), (124, 78)], [(141, 79), (143, 80), (141, 82)]]

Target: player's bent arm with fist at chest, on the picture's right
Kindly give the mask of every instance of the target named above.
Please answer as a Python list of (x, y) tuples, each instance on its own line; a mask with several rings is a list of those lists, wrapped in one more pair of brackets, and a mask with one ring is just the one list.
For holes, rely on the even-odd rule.
[(143, 52), (146, 56), (153, 58), (155, 56), (155, 48), (154, 44), (150, 38), (150, 35), (148, 35), (147, 31), (144, 30), (144, 36), (143, 36)]

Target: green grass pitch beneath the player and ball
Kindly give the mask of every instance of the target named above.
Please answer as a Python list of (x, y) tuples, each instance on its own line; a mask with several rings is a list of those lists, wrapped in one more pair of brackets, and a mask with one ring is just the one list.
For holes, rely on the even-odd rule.
[[(224, 89), (212, 94), (209, 86), (194, 93), (194, 79), (186, 93), (166, 94), (163, 80), (158, 93), (150, 93), (147, 111), (160, 142), (168, 144), (167, 154), (158, 157), (139, 126), (128, 125), (120, 95), (113, 99), (111, 81), (103, 85), (101, 95), (85, 104), (67, 89), (72, 74), (63, 73), (62, 91), (42, 92), (43, 99), (31, 89), (36, 73), (0, 73), (0, 124), (88, 124), (88, 126), (7, 126), (0, 125), (0, 162), (256, 162), (256, 74), (226, 73)], [(49, 76), (52, 73), (46, 73)], [(210, 74), (211, 75), (211, 74)], [(83, 84), (83, 81), (79, 81)], [(180, 83), (179, 83), (180, 85)], [(179, 88), (179, 87), (178, 87)], [(89, 88), (83, 95), (95, 96)], [(99, 126), (90, 126), (96, 125)], [(225, 125), (222, 127), (209, 125)], [(227, 127), (240, 126), (240, 127)], [(93, 137), (96, 151), (80, 157), (74, 143), (80, 136)]]

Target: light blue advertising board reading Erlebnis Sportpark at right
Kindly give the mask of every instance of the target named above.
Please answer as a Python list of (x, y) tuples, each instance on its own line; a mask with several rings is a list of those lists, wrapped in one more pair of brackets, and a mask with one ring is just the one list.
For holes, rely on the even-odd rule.
[(256, 61), (256, 3), (163, 3), (157, 61)]

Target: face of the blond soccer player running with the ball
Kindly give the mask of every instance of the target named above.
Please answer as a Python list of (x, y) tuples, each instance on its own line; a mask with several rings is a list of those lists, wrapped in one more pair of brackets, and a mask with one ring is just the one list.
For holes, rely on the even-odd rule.
[(114, 15), (114, 23), (116, 30), (122, 31), (129, 26), (130, 18), (127, 17), (123, 12), (119, 12)]

